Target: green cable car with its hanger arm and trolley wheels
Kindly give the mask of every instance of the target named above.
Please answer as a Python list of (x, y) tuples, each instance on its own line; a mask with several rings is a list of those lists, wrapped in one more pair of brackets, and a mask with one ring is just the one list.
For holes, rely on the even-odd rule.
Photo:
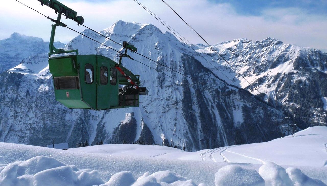
[[(49, 71), (53, 76), (56, 100), (70, 109), (108, 110), (138, 107), (139, 95), (147, 94), (145, 87), (139, 87), (140, 76), (134, 75), (121, 65), (127, 51), (137, 52), (133, 45), (123, 42), (125, 53), (120, 54), (119, 63), (100, 55), (78, 55), (78, 50), (65, 51), (54, 47), (56, 26), (66, 27), (60, 22), (61, 15), (72, 19), (77, 25), (83, 24), (82, 16), (57, 0), (38, 0), (58, 13), (52, 25), (49, 44)], [(76, 55), (51, 56), (73, 53)], [(119, 85), (125, 85), (119, 88)]]

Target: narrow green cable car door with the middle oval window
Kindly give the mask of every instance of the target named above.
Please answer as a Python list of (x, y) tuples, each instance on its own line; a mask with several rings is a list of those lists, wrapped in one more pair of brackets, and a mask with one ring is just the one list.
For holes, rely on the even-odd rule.
[(96, 109), (110, 108), (110, 64), (108, 60), (97, 57), (97, 81), (96, 81)]

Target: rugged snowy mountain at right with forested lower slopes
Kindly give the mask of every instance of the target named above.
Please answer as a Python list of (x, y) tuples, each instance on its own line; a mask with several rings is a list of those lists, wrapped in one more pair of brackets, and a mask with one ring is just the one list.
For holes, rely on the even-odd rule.
[(236, 75), (240, 86), (254, 94), (260, 92), (266, 101), (294, 116), (300, 128), (327, 126), (326, 53), (272, 38), (237, 39), (214, 45), (236, 72), (210, 47), (196, 47), (227, 67), (231, 76)]

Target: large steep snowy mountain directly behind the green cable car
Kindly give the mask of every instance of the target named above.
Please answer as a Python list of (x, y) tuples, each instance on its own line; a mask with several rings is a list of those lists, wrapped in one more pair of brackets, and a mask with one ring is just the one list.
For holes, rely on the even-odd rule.
[[(122, 50), (88, 29), (83, 33)], [(149, 90), (140, 98), (139, 108), (69, 110), (54, 99), (47, 54), (33, 55), (0, 76), (0, 141), (45, 146), (54, 139), (55, 143), (68, 142), (75, 147), (85, 140), (92, 144), (100, 140), (106, 144), (139, 140), (194, 151), (280, 136), (280, 110), (226, 84), (223, 76), (209, 69), (206, 61), (172, 34), (162, 33), (151, 24), (123, 21), (101, 33), (120, 43), (128, 41), (139, 53), (192, 79), (131, 53), (134, 59), (183, 83), (124, 59), (123, 65), (140, 74), (142, 86)], [(65, 47), (118, 61), (116, 52), (82, 35)]]

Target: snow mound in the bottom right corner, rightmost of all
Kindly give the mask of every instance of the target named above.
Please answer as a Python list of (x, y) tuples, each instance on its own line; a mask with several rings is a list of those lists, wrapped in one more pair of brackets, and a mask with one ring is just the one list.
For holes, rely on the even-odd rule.
[(326, 184), (319, 179), (306, 176), (300, 169), (288, 167), (286, 172), (291, 178), (294, 186), (326, 186)]

